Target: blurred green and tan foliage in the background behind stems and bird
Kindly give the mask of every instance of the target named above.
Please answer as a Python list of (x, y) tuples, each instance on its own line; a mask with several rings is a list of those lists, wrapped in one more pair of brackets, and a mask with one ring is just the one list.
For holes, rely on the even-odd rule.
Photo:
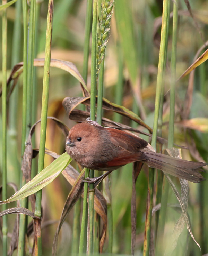
[[(18, 0), (20, 1), (20, 0)], [(194, 56), (198, 49), (208, 40), (208, 2), (207, 1), (189, 1), (193, 16), (187, 10), (184, 1), (179, 2), (179, 24), (177, 39), (177, 61), (176, 61), (176, 78), (193, 63)], [(7, 42), (7, 72), (8, 76), (14, 64), (23, 61), (23, 31), (20, 29), (20, 41), (18, 42), (19, 57), (16, 63), (12, 63), (14, 51), (12, 45), (14, 42), (15, 32), (15, 15), (17, 12), (17, 3), (7, 8), (8, 20), (8, 42)], [(62, 59), (73, 62), (79, 72), (83, 70), (83, 48), (85, 35), (85, 16), (86, 16), (86, 0), (57, 0), (54, 2), (54, 19), (52, 32), (52, 51), (51, 58)], [(47, 20), (47, 1), (37, 1), (37, 40), (36, 54), (37, 58), (44, 58), (45, 34)], [(138, 114), (150, 127), (153, 126), (155, 91), (157, 80), (158, 56), (159, 56), (159, 40), (161, 32), (161, 15), (163, 1), (161, 0), (117, 0), (115, 10), (112, 17), (110, 39), (107, 44), (105, 54), (105, 73), (104, 73), (104, 97), (111, 102), (120, 104), (128, 109), (138, 111)], [(171, 11), (173, 9), (173, 1), (171, 1)], [(160, 18), (158, 18), (160, 17)], [(22, 15), (18, 17), (22, 24)], [(172, 19), (170, 20), (172, 24)], [(0, 24), (1, 12), (0, 12)], [(198, 24), (198, 27), (196, 26)], [(0, 25), (2, 30), (2, 25)], [(2, 31), (0, 31), (2, 34)], [(163, 123), (162, 137), (168, 136), (169, 120), (169, 99), (170, 99), (170, 61), (171, 61), (171, 43), (172, 43), (172, 25), (169, 28), (167, 65), (164, 78), (165, 96), (163, 105)], [(0, 40), (0, 48), (2, 48), (2, 40)], [(201, 51), (200, 54), (203, 53)], [(0, 59), (2, 58), (0, 51)], [(199, 54), (199, 55), (200, 55)], [(1, 63), (0, 63), (1, 65)], [(116, 99), (118, 91), (116, 85), (119, 78), (119, 67), (123, 72), (123, 88), (122, 100)], [(1, 69), (1, 66), (0, 66)], [(201, 157), (208, 162), (208, 125), (205, 124), (204, 132), (200, 131), (200, 125), (197, 123), (189, 124), (186, 129), (180, 122), (183, 119), (192, 118), (208, 118), (208, 76), (207, 62), (201, 64), (195, 71), (193, 78), (193, 99), (190, 112), (185, 116), (186, 94), (190, 84), (189, 76), (181, 79), (176, 84), (176, 105), (175, 105), (175, 133), (174, 143), (185, 145), (189, 150), (182, 150), (184, 159), (198, 160)], [(35, 82), (36, 97), (34, 111), (36, 112), (33, 123), (40, 119), (41, 116), (41, 99), (43, 84), (43, 68), (35, 68), (37, 79)], [(7, 77), (8, 77), (7, 76)], [(0, 71), (0, 78), (2, 73)], [(1, 79), (0, 79), (1, 80)], [(140, 96), (142, 99), (142, 107), (135, 107), (135, 91), (141, 88)], [(90, 89), (90, 58), (87, 77), (87, 86)], [(20, 180), (20, 162), (21, 162), (21, 126), (22, 126), (22, 76), (13, 92), (15, 98), (10, 98), (8, 104), (8, 133), (7, 133), (7, 181), (14, 182), (19, 187)], [(81, 96), (81, 87), (79, 82), (66, 71), (51, 68), (50, 88), (49, 88), (49, 108), (48, 115), (62, 120), (69, 128), (75, 122), (68, 119), (66, 112), (62, 107), (62, 100), (66, 96)], [(16, 102), (15, 106), (15, 130), (10, 129), (11, 122), (11, 101)], [(14, 113), (14, 112), (13, 112)], [(131, 123), (127, 118), (121, 115), (114, 116), (113, 112), (104, 111), (104, 117), (114, 119), (118, 122), (137, 127), (135, 123)], [(0, 117), (1, 118), (1, 117)], [(0, 121), (1, 123), (1, 121)], [(194, 125), (193, 129), (192, 125)], [(142, 128), (140, 127), (142, 130)], [(144, 130), (144, 129), (143, 129)], [(146, 130), (144, 130), (146, 131)], [(0, 133), (1, 133), (0, 126)], [(40, 136), (40, 126), (35, 132), (35, 140), (33, 147), (38, 147)], [(2, 137), (2, 136), (1, 136)], [(0, 144), (1, 138), (0, 137)], [(141, 135), (142, 138), (149, 140), (147, 136)], [(52, 121), (47, 123), (46, 148), (51, 151), (62, 154), (64, 152), (65, 137), (62, 135)], [(167, 145), (164, 145), (167, 147)], [(0, 147), (0, 155), (2, 155)], [(198, 154), (199, 152), (199, 154)], [(33, 160), (35, 166), (36, 159)], [(52, 158), (45, 157), (45, 166), (49, 165)], [(0, 168), (2, 159), (0, 158)], [(75, 167), (76, 164), (72, 163)], [(132, 192), (132, 165), (127, 165), (122, 170), (116, 170), (111, 177), (111, 194), (112, 194), (112, 212), (113, 212), (113, 253), (130, 254), (131, 248), (131, 192)], [(145, 213), (147, 201), (147, 174), (148, 169), (143, 167), (137, 183), (137, 235), (135, 255), (142, 255), (142, 246), (144, 239)], [(35, 175), (35, 172), (34, 172)], [(205, 174), (205, 177), (207, 175)], [(180, 183), (174, 179), (177, 187)], [(0, 181), (1, 183), (1, 181)], [(192, 241), (186, 228), (180, 235), (177, 246), (172, 255), (202, 255), (208, 253), (208, 191), (207, 181), (201, 184), (190, 185), (188, 214), (194, 237), (200, 244), (202, 251)], [(64, 202), (71, 189), (71, 186), (63, 178), (59, 176), (51, 184), (43, 189), (42, 206), (42, 241), (43, 255), (51, 255), (51, 247), (57, 220), (60, 218)], [(13, 194), (13, 190), (8, 188), (8, 197)], [(155, 196), (153, 198), (155, 205)], [(177, 203), (172, 192), (169, 191), (168, 203)], [(15, 203), (11, 203), (10, 207), (15, 207)], [(171, 235), (177, 222), (180, 212), (176, 208), (167, 208), (163, 250), (168, 246)], [(13, 229), (15, 216), (8, 216), (8, 232)], [(30, 219), (28, 220), (30, 221)], [(153, 216), (153, 230), (155, 229), (155, 217)], [(73, 229), (73, 211), (67, 217), (62, 227), (61, 238), (59, 241), (60, 251), (58, 255), (70, 255), (72, 249), (72, 229)], [(154, 232), (153, 232), (154, 233)], [(32, 238), (28, 242), (32, 244)], [(1, 244), (0, 244), (1, 251)], [(104, 246), (104, 252), (107, 252), (107, 239)], [(17, 255), (17, 252), (14, 252)], [(154, 255), (154, 254), (152, 254)], [(161, 254), (162, 255), (162, 254)]]

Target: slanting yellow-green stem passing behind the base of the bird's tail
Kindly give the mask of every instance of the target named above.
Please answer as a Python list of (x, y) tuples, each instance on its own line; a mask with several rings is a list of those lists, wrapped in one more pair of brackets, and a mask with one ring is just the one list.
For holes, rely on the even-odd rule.
[[(157, 142), (157, 128), (158, 128), (158, 118), (159, 118), (159, 108), (161, 102), (162, 93), (162, 81), (163, 81), (163, 71), (165, 63), (165, 48), (166, 48), (166, 37), (167, 37), (167, 15), (168, 15), (168, 0), (163, 1), (163, 17), (162, 17), (162, 28), (161, 28), (161, 44), (159, 50), (159, 63), (158, 63), (158, 73), (157, 73), (157, 86), (156, 86), (156, 96), (155, 96), (155, 116), (153, 124), (153, 137), (152, 146), (156, 150)], [(153, 200), (153, 187), (154, 187), (154, 170), (149, 168), (149, 178), (148, 178), (148, 208), (145, 223), (145, 241), (143, 255), (149, 255), (150, 249), (150, 234), (151, 234), (151, 213), (152, 213), (152, 200)]]

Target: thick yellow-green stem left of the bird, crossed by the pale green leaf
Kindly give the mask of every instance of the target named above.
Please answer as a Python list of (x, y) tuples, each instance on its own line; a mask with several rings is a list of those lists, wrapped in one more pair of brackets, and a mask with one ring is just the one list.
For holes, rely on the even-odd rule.
[[(51, 39), (52, 39), (52, 22), (53, 22), (53, 0), (49, 0), (48, 14), (47, 14), (47, 29), (45, 42), (45, 66), (43, 75), (43, 94), (42, 94), (42, 109), (41, 109), (41, 134), (40, 134), (40, 151), (38, 159), (39, 174), (44, 168), (45, 157), (45, 140), (46, 140), (46, 126), (47, 126), (47, 109), (49, 100), (49, 78), (50, 78), (50, 63), (51, 63)], [(41, 217), (41, 198), (42, 190), (37, 192), (35, 202), (35, 212), (37, 217)], [(35, 249), (38, 255), (42, 255), (41, 234), (37, 234), (37, 247)]]

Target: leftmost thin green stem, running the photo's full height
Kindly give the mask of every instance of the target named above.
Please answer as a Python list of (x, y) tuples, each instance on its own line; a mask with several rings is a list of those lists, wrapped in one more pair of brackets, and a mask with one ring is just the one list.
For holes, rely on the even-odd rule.
[[(7, 0), (2, 0), (6, 4)], [(2, 200), (7, 199), (7, 9), (2, 11)], [(2, 210), (7, 206), (2, 205)], [(7, 216), (3, 216), (3, 256), (7, 256)]]

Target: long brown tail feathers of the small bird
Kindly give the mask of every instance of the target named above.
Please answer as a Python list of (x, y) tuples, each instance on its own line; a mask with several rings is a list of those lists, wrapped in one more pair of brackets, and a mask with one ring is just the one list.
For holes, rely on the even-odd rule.
[(201, 172), (203, 172), (201, 167), (207, 165), (207, 163), (182, 160), (148, 150), (141, 151), (148, 157), (148, 159), (143, 162), (150, 167), (157, 168), (164, 173), (187, 179), (188, 181), (195, 183), (204, 180), (201, 175)]

